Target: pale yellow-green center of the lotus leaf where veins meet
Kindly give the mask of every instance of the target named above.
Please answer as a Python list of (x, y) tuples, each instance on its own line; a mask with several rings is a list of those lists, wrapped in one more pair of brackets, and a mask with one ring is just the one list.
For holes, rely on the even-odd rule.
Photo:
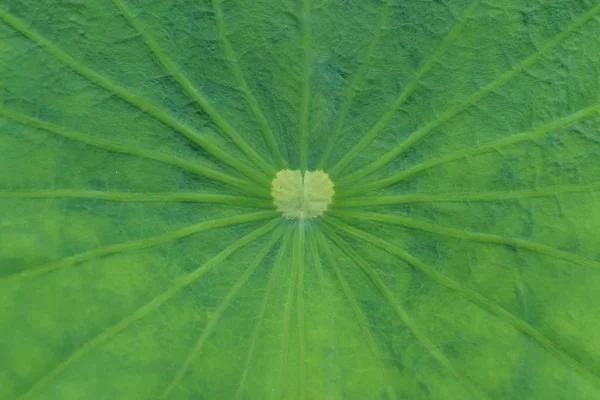
[(321, 170), (281, 170), (273, 179), (271, 194), (285, 218), (308, 219), (322, 215), (333, 199), (333, 182)]

